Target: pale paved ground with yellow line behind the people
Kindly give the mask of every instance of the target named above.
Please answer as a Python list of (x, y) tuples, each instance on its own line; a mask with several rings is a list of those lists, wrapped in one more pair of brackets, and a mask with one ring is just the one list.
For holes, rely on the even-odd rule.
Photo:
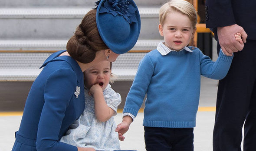
[[(201, 78), (200, 110), (197, 113), (197, 127), (194, 129), (194, 150), (212, 151), (212, 132), (214, 124), (214, 110), (217, 94), (217, 80)], [(204, 108), (205, 107), (205, 108)], [(212, 107), (212, 108), (208, 108)], [(11, 151), (14, 142), (14, 132), (19, 129), (21, 116), (5, 116), (0, 113), (0, 151)], [(14, 114), (15, 115), (15, 114)], [(120, 123), (122, 114), (115, 117), (116, 123)], [(142, 126), (143, 113), (138, 113), (130, 130), (125, 134), (125, 141), (120, 142), (121, 149), (133, 149), (145, 151), (144, 129)]]

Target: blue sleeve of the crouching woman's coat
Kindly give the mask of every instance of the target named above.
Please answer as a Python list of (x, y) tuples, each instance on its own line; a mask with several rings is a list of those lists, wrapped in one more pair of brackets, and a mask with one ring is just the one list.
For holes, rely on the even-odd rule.
[(45, 103), (38, 125), (37, 151), (77, 151), (77, 148), (59, 142), (59, 130), (66, 107), (74, 95), (77, 79), (72, 69), (58, 69), (46, 81)]

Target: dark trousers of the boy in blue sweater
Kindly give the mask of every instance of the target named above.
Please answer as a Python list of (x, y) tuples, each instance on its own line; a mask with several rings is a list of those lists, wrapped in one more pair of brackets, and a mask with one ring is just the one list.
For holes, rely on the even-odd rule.
[(144, 127), (147, 151), (194, 151), (194, 128)]

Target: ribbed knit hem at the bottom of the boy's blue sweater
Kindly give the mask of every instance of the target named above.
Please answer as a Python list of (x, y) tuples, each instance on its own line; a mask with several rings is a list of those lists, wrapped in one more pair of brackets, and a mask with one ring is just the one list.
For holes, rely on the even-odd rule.
[(196, 127), (196, 121), (178, 121), (178, 122), (165, 122), (165, 121), (151, 121), (143, 120), (143, 126), (148, 127), (168, 127), (168, 128), (191, 128)]

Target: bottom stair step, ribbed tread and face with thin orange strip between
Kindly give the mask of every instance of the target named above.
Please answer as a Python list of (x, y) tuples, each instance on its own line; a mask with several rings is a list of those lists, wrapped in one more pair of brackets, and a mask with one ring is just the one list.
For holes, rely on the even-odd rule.
[[(159, 41), (139, 40), (133, 48), (138, 51), (119, 55), (112, 65), (112, 72), (116, 75), (114, 81), (132, 81), (140, 60), (147, 53), (143, 50), (155, 49)], [(51, 54), (46, 50), (65, 50), (66, 42), (63, 40), (0, 40), (0, 50), (2, 50), (0, 53), (0, 81), (34, 81), (42, 70), (39, 67)]]

